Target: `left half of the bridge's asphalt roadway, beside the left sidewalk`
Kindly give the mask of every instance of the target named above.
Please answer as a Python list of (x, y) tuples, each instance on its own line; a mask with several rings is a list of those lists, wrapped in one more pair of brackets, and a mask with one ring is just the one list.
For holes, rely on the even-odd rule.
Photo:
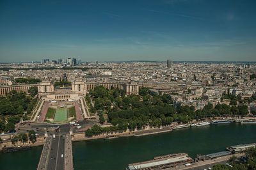
[(47, 164), (47, 169), (49, 170), (55, 169), (59, 140), (60, 140), (60, 136), (56, 136), (55, 139), (52, 139), (52, 146), (51, 146), (49, 160)]

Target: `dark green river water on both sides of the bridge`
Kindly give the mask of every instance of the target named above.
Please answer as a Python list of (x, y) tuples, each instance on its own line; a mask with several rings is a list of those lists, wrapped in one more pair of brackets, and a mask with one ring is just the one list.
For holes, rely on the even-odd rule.
[[(158, 155), (223, 151), (234, 144), (256, 143), (256, 125), (228, 123), (173, 130), (163, 134), (118, 139), (96, 139), (73, 143), (74, 169), (124, 169), (128, 164)], [(36, 169), (42, 146), (1, 153), (1, 169)]]

